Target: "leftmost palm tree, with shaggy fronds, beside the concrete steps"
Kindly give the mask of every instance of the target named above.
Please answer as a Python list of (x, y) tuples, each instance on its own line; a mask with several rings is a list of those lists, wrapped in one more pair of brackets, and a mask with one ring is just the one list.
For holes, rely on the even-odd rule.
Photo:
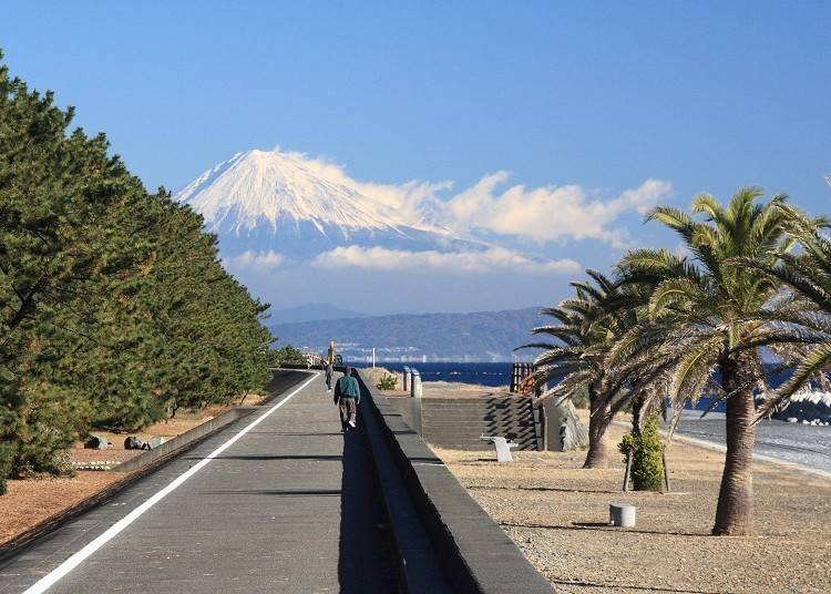
[(604, 309), (605, 303), (617, 293), (617, 283), (595, 270), (586, 270), (586, 274), (589, 280), (572, 283), (576, 291), (574, 298), (543, 309), (556, 324), (532, 330), (534, 335), (546, 335), (555, 341), (519, 348), (545, 349), (534, 361), (535, 379), (537, 385), (545, 386), (557, 381), (537, 404), (551, 399), (572, 399), (583, 390), (588, 392), (588, 452), (583, 468), (605, 468), (609, 457), (606, 430), (623, 404), (613, 398), (619, 385), (608, 381), (604, 361), (613, 339), (622, 332), (622, 319)]

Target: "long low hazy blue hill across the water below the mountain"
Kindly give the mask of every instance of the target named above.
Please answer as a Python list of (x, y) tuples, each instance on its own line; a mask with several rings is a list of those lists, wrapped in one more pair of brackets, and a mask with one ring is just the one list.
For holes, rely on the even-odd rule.
[(541, 307), (475, 314), (394, 315), (277, 324), (279, 344), (322, 351), (330, 339), (348, 359), (366, 360), (376, 348), (383, 360), (507, 361), (534, 351), (513, 352), (532, 341), (531, 328), (546, 320)]

